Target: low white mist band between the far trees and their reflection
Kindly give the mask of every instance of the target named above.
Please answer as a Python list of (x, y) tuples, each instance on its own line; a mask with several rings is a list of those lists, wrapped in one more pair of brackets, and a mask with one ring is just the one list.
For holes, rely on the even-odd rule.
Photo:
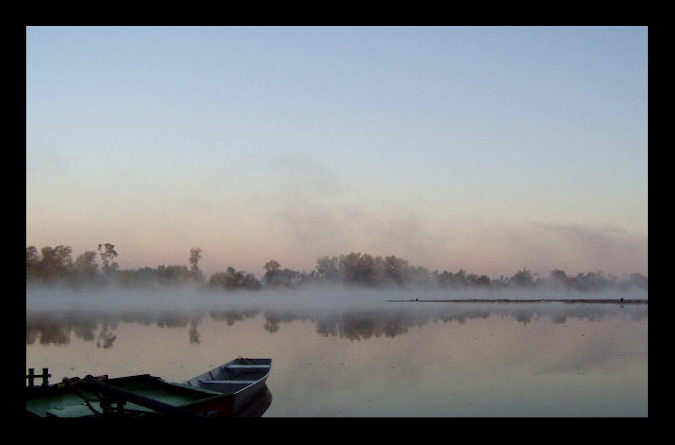
[[(646, 291), (605, 290), (574, 292), (569, 290), (369, 290), (331, 286), (286, 290), (229, 291), (186, 287), (120, 289), (113, 286), (73, 291), (67, 287), (31, 286), (26, 291), (27, 310), (170, 310), (194, 311), (223, 308), (258, 308), (283, 310), (332, 311), (345, 308), (388, 308), (388, 300), (471, 300), (471, 299), (560, 299), (605, 300), (647, 299)], [(429, 303), (433, 304), (433, 303)], [(440, 303), (439, 303), (440, 304)], [(468, 303), (467, 303), (468, 304)], [(443, 306), (434, 306), (443, 307)]]

